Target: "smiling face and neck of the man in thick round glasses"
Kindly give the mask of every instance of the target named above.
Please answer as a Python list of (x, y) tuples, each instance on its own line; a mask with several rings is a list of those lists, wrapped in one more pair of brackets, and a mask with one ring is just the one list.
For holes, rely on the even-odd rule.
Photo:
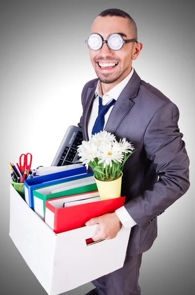
[[(133, 19), (109, 15), (103, 17), (104, 14), (95, 19), (87, 39), (89, 49), (92, 47), (89, 50), (91, 63), (101, 82), (103, 94), (129, 75), (132, 60), (137, 59), (142, 48), (142, 43), (137, 42), (137, 27)], [(123, 39), (128, 42), (125, 46)], [(108, 40), (108, 43), (102, 40)], [(107, 44), (114, 49), (111, 50)], [(95, 46), (102, 47), (97, 49)]]

